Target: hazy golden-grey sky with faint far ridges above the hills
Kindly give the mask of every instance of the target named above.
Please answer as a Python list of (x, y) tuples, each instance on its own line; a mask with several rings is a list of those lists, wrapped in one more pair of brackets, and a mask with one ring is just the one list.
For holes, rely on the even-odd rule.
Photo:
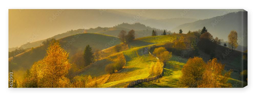
[(239, 10), (225, 9), (9, 9), (9, 47), (47, 39), (71, 29), (112, 27), (140, 19), (207, 19)]

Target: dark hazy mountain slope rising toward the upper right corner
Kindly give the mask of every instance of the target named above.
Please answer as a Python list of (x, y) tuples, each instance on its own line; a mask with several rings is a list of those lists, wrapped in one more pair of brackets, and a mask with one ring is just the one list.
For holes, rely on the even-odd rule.
[[(197, 31), (206, 27), (209, 33), (219, 39), (228, 40), (228, 35), (231, 30), (236, 30), (238, 33), (239, 44), (247, 46), (247, 11), (232, 12), (218, 17), (198, 20), (192, 23), (182, 24), (175, 27), (171, 31), (178, 32), (179, 29), (183, 30), (183, 33), (190, 31)], [(241, 40), (244, 40), (241, 42)]]

